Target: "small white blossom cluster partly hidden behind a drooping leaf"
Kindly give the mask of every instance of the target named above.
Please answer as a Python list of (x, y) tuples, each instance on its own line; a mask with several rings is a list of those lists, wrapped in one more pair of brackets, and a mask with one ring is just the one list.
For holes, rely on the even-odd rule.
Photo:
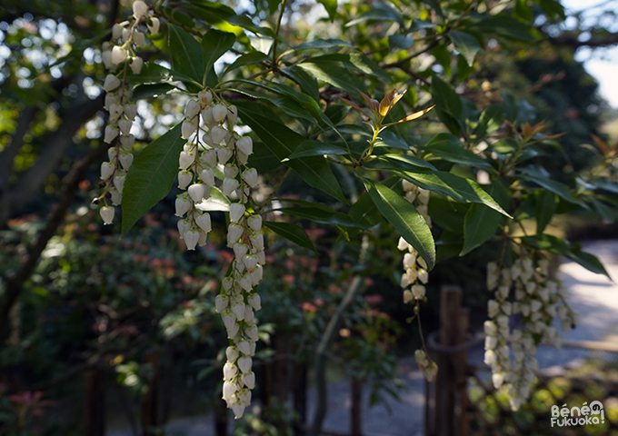
[[(427, 214), (427, 203), (429, 203), (429, 191), (419, 188), (407, 180), (403, 181), (405, 199), (410, 203), (415, 203), (416, 210), (423, 215), (425, 222), (429, 227), (432, 226), (432, 219)], [(427, 272), (427, 263), (419, 256), (414, 247), (407, 243), (403, 237), (399, 238), (397, 248), (404, 254), (404, 274), (402, 275), (401, 286), (404, 288), (404, 302), (412, 302), (413, 300), (421, 300), (425, 295), (424, 284), (429, 279)], [(405, 289), (410, 286), (410, 289)]]

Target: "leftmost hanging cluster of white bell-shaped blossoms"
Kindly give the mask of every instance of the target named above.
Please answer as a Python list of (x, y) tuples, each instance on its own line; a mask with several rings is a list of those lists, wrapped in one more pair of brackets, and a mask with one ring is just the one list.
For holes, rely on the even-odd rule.
[[(114, 25), (111, 42), (103, 45), (103, 63), (111, 72), (105, 77), (103, 85), (107, 93), (104, 108), (109, 112), (104, 141), (107, 144), (115, 142), (107, 151), (109, 162), (101, 164), (101, 180), (106, 190), (103, 195), (105, 205), (99, 212), (105, 224), (114, 221), (114, 207), (108, 206), (106, 200), (110, 199), (114, 206), (122, 202), (126, 172), (133, 163), (135, 136), (131, 134), (131, 127), (137, 106), (131, 101), (133, 93), (126, 81), (127, 69), (131, 68), (134, 74), (142, 71), (144, 61), (135, 54), (136, 47), (145, 45), (145, 34), (139, 30), (140, 25), (146, 25), (153, 35), (159, 32), (159, 19), (148, 14), (148, 6), (144, 2), (137, 0), (133, 4), (133, 11), (131, 21)], [(121, 65), (121, 71), (115, 74)], [(100, 203), (100, 200), (95, 199), (95, 203)]]

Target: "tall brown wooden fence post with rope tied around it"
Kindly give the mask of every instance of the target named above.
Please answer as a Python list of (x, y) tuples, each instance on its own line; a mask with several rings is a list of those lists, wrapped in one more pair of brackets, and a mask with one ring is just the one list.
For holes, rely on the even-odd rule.
[[(458, 286), (444, 286), (440, 293), (440, 344), (457, 345), (460, 342), (462, 290)], [(456, 375), (454, 354), (438, 353), (438, 376), (436, 378), (435, 429), (438, 436), (455, 436)]]

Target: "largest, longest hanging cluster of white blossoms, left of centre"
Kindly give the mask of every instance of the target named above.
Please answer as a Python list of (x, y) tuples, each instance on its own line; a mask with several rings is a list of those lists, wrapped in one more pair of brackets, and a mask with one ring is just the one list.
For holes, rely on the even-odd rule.
[[(261, 308), (261, 302), (254, 287), (262, 280), (265, 263), (262, 217), (246, 207), (251, 189), (257, 185), (256, 170), (247, 166), (253, 142), (234, 132), (238, 119), (235, 106), (208, 90), (187, 102), (184, 116), (182, 137), (187, 144), (179, 157), (178, 187), (185, 192), (176, 198), (175, 214), (181, 218), (178, 231), (187, 250), (206, 243), (211, 218), (202, 209), (212, 190), (220, 189), (232, 202), (227, 246), (234, 251), (234, 261), (215, 306), (231, 342), (224, 365), (223, 399), (238, 419), (249, 405), (255, 385), (251, 371), (258, 340), (254, 311)], [(220, 188), (215, 186), (215, 173), (223, 173)]]

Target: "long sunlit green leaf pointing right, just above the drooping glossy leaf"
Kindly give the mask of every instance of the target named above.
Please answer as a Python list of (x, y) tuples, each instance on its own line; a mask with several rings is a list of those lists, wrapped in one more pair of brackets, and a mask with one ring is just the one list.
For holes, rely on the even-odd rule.
[(491, 207), (494, 211), (502, 213), (504, 216), (512, 218), (504, 212), (500, 204), (483, 191), (478, 183), (470, 179), (459, 177), (444, 171), (433, 171), (430, 173), (414, 173), (412, 171), (399, 171), (406, 180), (421, 186), (424, 189), (450, 196), (455, 202), (461, 203), (480, 203)]

